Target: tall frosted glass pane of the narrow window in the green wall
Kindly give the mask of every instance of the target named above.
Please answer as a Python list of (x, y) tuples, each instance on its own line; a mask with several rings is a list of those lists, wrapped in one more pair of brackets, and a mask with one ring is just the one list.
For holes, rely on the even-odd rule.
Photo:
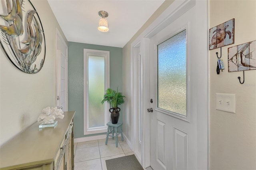
[(104, 126), (104, 104), (100, 104), (104, 94), (105, 81), (104, 57), (89, 56), (88, 58), (88, 123), (89, 128)]

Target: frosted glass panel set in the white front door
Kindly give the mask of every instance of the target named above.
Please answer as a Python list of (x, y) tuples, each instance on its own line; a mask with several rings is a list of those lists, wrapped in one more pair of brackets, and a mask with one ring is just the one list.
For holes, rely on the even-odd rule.
[(157, 46), (158, 108), (186, 116), (186, 30)]

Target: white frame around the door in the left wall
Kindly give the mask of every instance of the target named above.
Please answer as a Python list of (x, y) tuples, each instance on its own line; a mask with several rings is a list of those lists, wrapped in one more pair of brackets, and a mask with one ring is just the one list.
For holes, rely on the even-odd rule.
[[(58, 58), (58, 51), (60, 50), (59, 46), (60, 44), (58, 44), (58, 38), (60, 39), (62, 45), (65, 46), (65, 52), (66, 52), (66, 56), (67, 56), (67, 59), (68, 59), (68, 45), (66, 44), (65, 40), (63, 39), (62, 35), (60, 34), (60, 31), (58, 30), (58, 28), (56, 28), (56, 34), (55, 34), (55, 84), (56, 84), (56, 94), (55, 94), (55, 97), (56, 97), (56, 100), (55, 100), (55, 106), (58, 106), (58, 100), (57, 100), (57, 96), (59, 95), (58, 94), (58, 90), (60, 90), (58, 87), (58, 77), (60, 77), (60, 72), (58, 71), (58, 66), (61, 62), (60, 58)], [(68, 61), (66, 61), (66, 65), (67, 65), (67, 73), (66, 73), (66, 110), (68, 110)], [(58, 75), (59, 74), (59, 75)]]

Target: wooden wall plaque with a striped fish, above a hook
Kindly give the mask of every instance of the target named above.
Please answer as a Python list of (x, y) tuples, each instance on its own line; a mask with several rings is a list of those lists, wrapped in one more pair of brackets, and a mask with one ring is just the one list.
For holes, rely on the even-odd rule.
[(256, 40), (228, 48), (228, 72), (256, 69)]

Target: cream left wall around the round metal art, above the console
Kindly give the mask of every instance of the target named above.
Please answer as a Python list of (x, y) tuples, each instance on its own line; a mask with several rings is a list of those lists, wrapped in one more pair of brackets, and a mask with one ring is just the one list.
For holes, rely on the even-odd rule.
[(42, 108), (55, 106), (55, 29), (61, 29), (47, 0), (31, 2), (44, 28), (46, 58), (40, 72), (26, 74), (0, 50), (0, 145), (36, 122)]

